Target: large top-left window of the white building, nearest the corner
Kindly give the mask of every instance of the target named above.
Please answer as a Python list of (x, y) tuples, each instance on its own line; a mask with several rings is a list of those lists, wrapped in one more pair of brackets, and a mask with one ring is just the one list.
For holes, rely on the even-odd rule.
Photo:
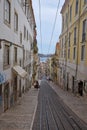
[(10, 24), (11, 21), (11, 7), (9, 0), (5, 0), (5, 22)]

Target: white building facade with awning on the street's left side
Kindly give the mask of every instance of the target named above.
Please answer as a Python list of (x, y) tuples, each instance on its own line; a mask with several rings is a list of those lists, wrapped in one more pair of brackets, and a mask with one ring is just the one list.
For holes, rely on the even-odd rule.
[(31, 85), (35, 28), (31, 0), (0, 0), (0, 113)]

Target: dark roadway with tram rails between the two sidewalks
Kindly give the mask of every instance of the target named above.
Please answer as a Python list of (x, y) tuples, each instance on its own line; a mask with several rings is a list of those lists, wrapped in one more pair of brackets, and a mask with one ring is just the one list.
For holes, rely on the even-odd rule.
[(87, 124), (76, 116), (44, 80), (39, 91), (33, 130), (87, 130)]

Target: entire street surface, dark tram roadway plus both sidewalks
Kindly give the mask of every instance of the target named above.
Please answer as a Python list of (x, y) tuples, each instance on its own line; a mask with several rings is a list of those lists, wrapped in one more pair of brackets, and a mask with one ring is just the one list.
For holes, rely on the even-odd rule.
[(85, 97), (42, 80), (0, 115), (0, 130), (87, 130), (86, 107)]

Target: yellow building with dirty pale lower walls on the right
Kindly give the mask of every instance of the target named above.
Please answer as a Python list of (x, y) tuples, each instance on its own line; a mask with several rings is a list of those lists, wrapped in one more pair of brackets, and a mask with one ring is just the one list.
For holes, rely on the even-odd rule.
[(65, 0), (61, 9), (60, 79), (64, 89), (87, 91), (87, 0)]

